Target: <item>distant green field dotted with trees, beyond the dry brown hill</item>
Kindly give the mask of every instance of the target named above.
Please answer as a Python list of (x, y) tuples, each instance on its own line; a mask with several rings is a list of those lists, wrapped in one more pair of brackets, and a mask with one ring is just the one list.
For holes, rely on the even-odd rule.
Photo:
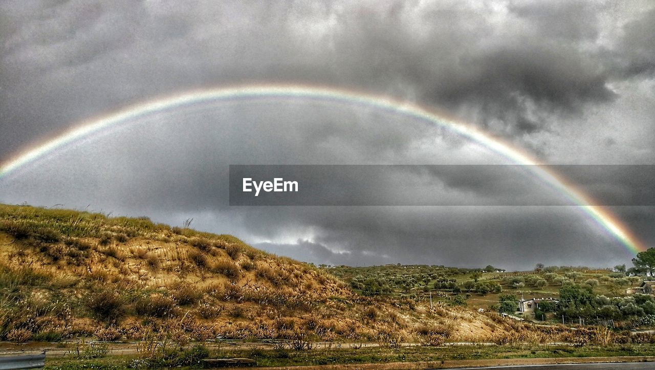
[[(485, 312), (498, 310), (501, 295), (559, 299), (563, 286), (579, 284), (595, 295), (626, 297), (643, 278), (626, 276), (611, 268), (551, 266), (532, 271), (486, 272), (483, 268), (455, 268), (428, 265), (375, 267), (327, 267), (362, 295), (409, 297), (417, 301), (462, 305)], [(552, 315), (550, 315), (552, 316)]]

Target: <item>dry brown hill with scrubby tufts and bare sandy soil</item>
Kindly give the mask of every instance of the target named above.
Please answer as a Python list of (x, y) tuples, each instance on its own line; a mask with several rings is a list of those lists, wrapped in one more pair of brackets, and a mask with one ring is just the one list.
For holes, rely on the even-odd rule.
[(147, 217), (0, 205), (0, 340), (165, 336), (434, 342), (513, 331), (467, 308), (364, 297), (234, 236)]

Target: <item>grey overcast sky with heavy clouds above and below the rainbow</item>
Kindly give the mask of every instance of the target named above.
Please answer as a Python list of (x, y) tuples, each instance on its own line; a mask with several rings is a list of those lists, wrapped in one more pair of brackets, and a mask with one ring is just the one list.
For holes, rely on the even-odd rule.
[[(655, 164), (653, 35), (652, 1), (3, 1), (0, 161), (159, 96), (288, 83), (439, 109), (550, 164)], [(193, 218), (196, 229), (315, 263), (629, 263), (575, 207), (255, 208), (227, 199), (229, 164), (502, 163), (483, 145), (373, 107), (207, 102), (50, 153), (0, 178), (0, 202), (172, 225)], [(603, 191), (629, 193), (629, 175), (605, 179)], [(502, 204), (501, 180), (459, 172), (429, 183), (442, 196)], [(548, 191), (538, 180), (529, 189)], [(610, 210), (655, 246), (655, 207)]]

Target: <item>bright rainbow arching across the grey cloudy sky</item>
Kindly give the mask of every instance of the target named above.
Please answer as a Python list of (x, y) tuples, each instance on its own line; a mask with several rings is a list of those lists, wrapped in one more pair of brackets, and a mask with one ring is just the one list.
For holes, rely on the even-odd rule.
[(216, 100), (254, 98), (303, 98), (364, 105), (390, 111), (398, 115), (432, 122), (432, 124), (447, 128), (464, 138), (480, 143), (491, 151), (508, 159), (510, 162), (529, 166), (529, 170), (535, 176), (542, 179), (542, 181), (555, 189), (555, 191), (563, 194), (572, 202), (572, 204), (578, 206), (580, 210), (586, 213), (586, 215), (588, 215), (588, 217), (590, 217), (597, 225), (602, 229), (605, 229), (608, 234), (616, 238), (616, 240), (625, 246), (630, 253), (638, 253), (639, 251), (646, 250), (645, 246), (643, 246), (643, 244), (641, 244), (641, 242), (631, 234), (629, 229), (627, 229), (619, 219), (612, 215), (612, 213), (608, 212), (603, 207), (598, 206), (589, 196), (576, 189), (573, 185), (567, 183), (567, 181), (561, 176), (543, 166), (544, 164), (529, 156), (521, 149), (518, 149), (501, 139), (494, 138), (493, 136), (477, 129), (475, 126), (457, 122), (456, 120), (443, 115), (443, 113), (438, 113), (433, 109), (421, 107), (414, 103), (395, 100), (386, 96), (377, 96), (338, 88), (284, 84), (258, 84), (193, 90), (176, 94), (174, 96), (157, 98), (149, 102), (126, 107), (117, 113), (109, 113), (103, 117), (81, 122), (81, 124), (78, 124), (75, 128), (60, 134), (45, 143), (41, 143), (41, 145), (37, 145), (33, 149), (29, 149), (2, 164), (2, 166), (0, 166), (0, 179), (16, 171), (18, 168), (25, 166), (29, 162), (33, 162), (48, 153), (52, 153), (58, 148), (64, 147), (78, 139), (90, 136), (100, 130), (121, 124), (122, 122), (128, 122), (151, 113), (183, 107), (186, 105)]

